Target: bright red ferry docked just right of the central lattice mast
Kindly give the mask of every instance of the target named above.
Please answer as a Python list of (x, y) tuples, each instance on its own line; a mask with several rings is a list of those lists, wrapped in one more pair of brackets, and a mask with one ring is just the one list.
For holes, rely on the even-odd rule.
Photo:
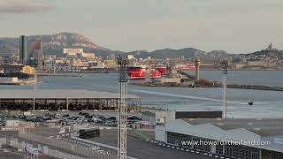
[[(128, 66), (127, 75), (130, 79), (146, 79), (146, 70), (144, 66)], [(157, 69), (150, 69), (150, 79), (160, 79), (162, 73)]]

